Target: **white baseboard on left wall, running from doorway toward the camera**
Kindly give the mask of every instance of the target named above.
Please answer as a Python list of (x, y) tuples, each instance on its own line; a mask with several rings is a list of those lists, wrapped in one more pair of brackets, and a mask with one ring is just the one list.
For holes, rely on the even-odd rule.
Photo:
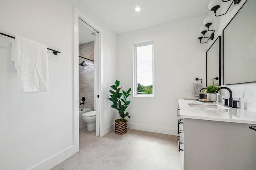
[(37, 164), (36, 166), (30, 168), (30, 170), (48, 170), (48, 169), (56, 166), (57, 164), (59, 164), (60, 162), (65, 160), (66, 158), (72, 156), (73, 154), (75, 154), (78, 151), (79, 151), (79, 147), (76, 147), (75, 145), (73, 145), (73, 146), (69, 147), (68, 149), (65, 149), (62, 152), (52, 156), (51, 158), (44, 160), (40, 164)]

